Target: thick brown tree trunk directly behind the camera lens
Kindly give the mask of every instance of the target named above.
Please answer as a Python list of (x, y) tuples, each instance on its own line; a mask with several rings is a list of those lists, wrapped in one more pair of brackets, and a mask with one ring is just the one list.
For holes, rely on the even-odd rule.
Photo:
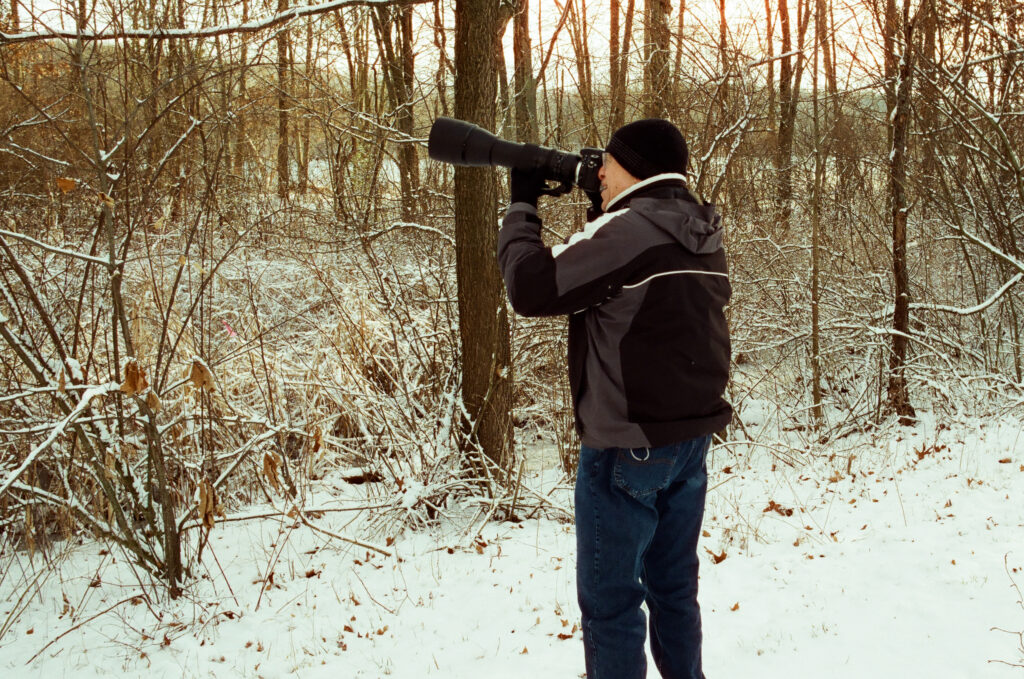
[[(499, 7), (456, 0), (455, 116), (495, 125)], [(502, 467), (514, 459), (512, 366), (498, 249), (498, 185), (492, 168), (455, 170), (456, 275), (462, 343), (462, 394), (470, 431)]]

